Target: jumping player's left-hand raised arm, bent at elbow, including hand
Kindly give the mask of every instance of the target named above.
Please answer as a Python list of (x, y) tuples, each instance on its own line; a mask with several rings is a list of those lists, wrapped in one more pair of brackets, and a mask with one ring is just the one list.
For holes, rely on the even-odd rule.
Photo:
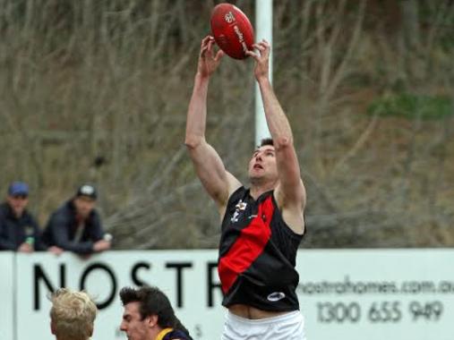
[(195, 75), (193, 95), (186, 121), (185, 145), (189, 150), (197, 175), (210, 197), (218, 204), (219, 213), (227, 205), (228, 196), (241, 184), (227, 172), (218, 153), (205, 140), (207, 93), (211, 74), (217, 69), (224, 53), (214, 52), (214, 38), (201, 41), (201, 52)]

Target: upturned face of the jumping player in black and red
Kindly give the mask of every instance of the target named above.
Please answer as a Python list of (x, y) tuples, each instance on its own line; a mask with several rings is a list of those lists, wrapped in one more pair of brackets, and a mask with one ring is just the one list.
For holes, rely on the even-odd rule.
[(264, 145), (255, 150), (249, 161), (248, 172), (251, 180), (260, 178), (275, 180), (278, 177), (276, 153), (272, 145)]

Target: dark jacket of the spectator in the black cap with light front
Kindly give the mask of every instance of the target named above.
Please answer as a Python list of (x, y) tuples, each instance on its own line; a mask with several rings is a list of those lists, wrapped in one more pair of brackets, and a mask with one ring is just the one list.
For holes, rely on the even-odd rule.
[(98, 211), (92, 209), (89, 217), (84, 221), (84, 229), (79, 241), (75, 240), (78, 227), (80, 226), (76, 219), (73, 200), (68, 200), (49, 217), (43, 240), (48, 246), (56, 245), (64, 251), (90, 254), (93, 252), (93, 243), (101, 240), (104, 235)]

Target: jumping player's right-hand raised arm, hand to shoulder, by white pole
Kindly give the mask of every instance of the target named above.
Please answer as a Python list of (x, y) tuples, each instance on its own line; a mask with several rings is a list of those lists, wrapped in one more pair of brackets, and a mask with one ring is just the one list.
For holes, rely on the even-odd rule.
[(266, 121), (276, 150), (279, 180), (275, 190), (276, 199), (287, 224), (296, 233), (302, 234), (304, 232), (304, 184), (301, 180), (290, 123), (270, 83), (270, 44), (262, 40), (253, 47), (258, 50), (258, 53), (249, 51), (247, 54), (256, 61), (254, 73), (261, 89)]

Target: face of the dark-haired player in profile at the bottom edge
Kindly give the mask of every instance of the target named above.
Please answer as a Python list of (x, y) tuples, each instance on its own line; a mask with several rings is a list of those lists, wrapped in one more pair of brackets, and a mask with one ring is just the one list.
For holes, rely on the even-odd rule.
[(148, 320), (147, 318), (141, 319), (139, 302), (130, 302), (124, 306), (120, 329), (126, 333), (128, 340), (147, 340), (149, 338)]

